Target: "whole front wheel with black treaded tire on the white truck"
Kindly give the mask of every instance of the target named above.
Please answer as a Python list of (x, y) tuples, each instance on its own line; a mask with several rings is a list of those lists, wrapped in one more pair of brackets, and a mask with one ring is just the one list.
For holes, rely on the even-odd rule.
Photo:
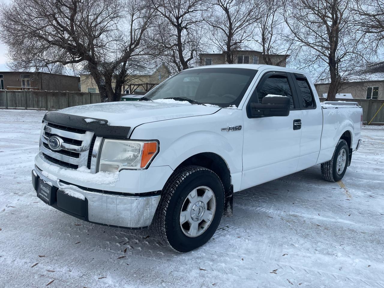
[[(200, 188), (195, 190), (198, 187)], [(203, 199), (202, 197), (204, 201), (209, 197), (210, 200), (206, 204), (200, 203), (202, 201), (195, 202), (196, 199)], [(224, 200), (223, 184), (212, 170), (200, 166), (186, 166), (175, 170), (164, 185), (154, 215), (153, 227), (157, 238), (164, 246), (181, 253), (204, 245), (217, 230), (223, 216)], [(189, 220), (184, 222), (187, 216)], [(192, 216), (195, 217), (194, 220)], [(205, 222), (197, 217), (210, 217), (210, 220)], [(180, 223), (180, 218), (183, 224)], [(194, 229), (196, 225), (197, 229)]]

